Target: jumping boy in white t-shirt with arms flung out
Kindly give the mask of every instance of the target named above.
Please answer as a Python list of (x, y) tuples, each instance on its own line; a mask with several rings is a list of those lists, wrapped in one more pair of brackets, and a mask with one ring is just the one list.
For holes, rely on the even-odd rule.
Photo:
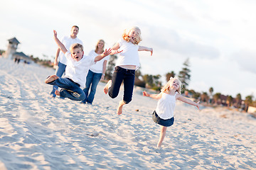
[[(63, 88), (60, 91), (55, 91), (57, 96), (70, 98), (73, 101), (82, 101), (85, 99), (85, 93), (82, 89), (85, 88), (85, 78), (89, 67), (92, 64), (95, 64), (95, 62), (102, 60), (107, 55), (110, 55), (111, 49), (105, 50), (101, 55), (93, 58), (85, 56), (82, 45), (75, 43), (71, 45), (70, 52), (68, 52), (63, 43), (57, 38), (57, 32), (53, 30), (53, 33), (55, 42), (60, 50), (65, 54), (68, 62), (65, 69), (65, 77), (60, 78), (56, 75), (52, 75), (48, 77), (45, 82), (46, 84), (56, 85)], [(115, 53), (119, 53), (119, 51)]]

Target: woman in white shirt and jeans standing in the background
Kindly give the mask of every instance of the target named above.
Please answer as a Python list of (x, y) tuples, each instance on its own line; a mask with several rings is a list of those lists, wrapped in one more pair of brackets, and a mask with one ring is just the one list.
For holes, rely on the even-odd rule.
[[(97, 55), (102, 54), (104, 52), (105, 41), (98, 40), (95, 50), (91, 50), (89, 56), (96, 57)], [(93, 64), (86, 77), (85, 89), (85, 100), (82, 103), (92, 104), (93, 99), (95, 98), (95, 93), (97, 89), (97, 84), (99, 84), (100, 80), (104, 79), (105, 72), (107, 68), (107, 60), (108, 57), (105, 57), (103, 60), (96, 62)], [(90, 89), (90, 94), (89, 94)]]

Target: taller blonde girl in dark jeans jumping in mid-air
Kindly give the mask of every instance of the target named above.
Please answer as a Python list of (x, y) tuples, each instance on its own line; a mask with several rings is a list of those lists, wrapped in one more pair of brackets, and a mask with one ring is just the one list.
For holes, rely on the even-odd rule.
[[(135, 71), (139, 68), (139, 52), (149, 51), (151, 55), (153, 49), (150, 47), (139, 46), (142, 41), (141, 30), (138, 27), (132, 27), (124, 30), (122, 39), (120, 39), (113, 47), (112, 53), (119, 50), (117, 64), (114, 67), (112, 80), (108, 81), (104, 92), (109, 94), (111, 98), (116, 98), (119, 89), (124, 81), (124, 97), (119, 101), (117, 114), (122, 114), (122, 107), (132, 101), (132, 93), (134, 89)], [(110, 54), (112, 55), (112, 54)]]

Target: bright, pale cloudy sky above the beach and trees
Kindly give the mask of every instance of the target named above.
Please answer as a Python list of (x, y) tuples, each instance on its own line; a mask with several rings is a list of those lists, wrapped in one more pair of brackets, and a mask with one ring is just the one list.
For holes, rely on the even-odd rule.
[(112, 47), (124, 29), (138, 26), (139, 45), (154, 50), (152, 56), (139, 52), (142, 74), (178, 75), (188, 59), (188, 89), (213, 87), (213, 94), (255, 100), (255, 7), (254, 0), (1, 0), (0, 49), (16, 37), (18, 52), (53, 58), (53, 30), (62, 38), (76, 25), (87, 54), (97, 40)]

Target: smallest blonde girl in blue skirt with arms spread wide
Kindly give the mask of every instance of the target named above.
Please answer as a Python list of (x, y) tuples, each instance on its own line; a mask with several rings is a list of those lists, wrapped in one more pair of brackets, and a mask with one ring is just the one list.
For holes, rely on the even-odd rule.
[(161, 147), (164, 137), (166, 136), (167, 127), (174, 124), (174, 108), (177, 99), (184, 103), (196, 106), (198, 109), (200, 108), (199, 101), (196, 103), (189, 98), (181, 96), (181, 88), (181, 81), (176, 77), (171, 77), (167, 84), (161, 89), (160, 94), (148, 94), (146, 91), (143, 91), (143, 96), (159, 99), (156, 110), (152, 114), (154, 122), (161, 125), (157, 147)]

